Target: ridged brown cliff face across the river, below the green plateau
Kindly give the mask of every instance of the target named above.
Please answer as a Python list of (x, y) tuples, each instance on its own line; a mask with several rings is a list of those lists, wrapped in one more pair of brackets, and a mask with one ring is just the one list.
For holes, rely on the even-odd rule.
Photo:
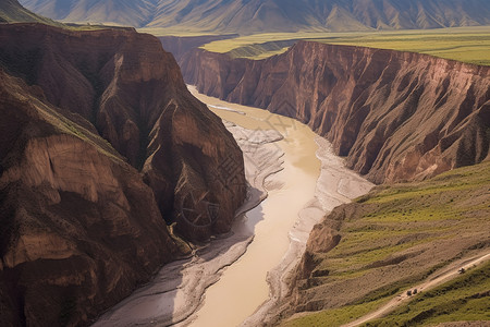
[(205, 94), (307, 123), (377, 183), (424, 179), (489, 156), (487, 66), (299, 41), (261, 61), (196, 49), (182, 68)]

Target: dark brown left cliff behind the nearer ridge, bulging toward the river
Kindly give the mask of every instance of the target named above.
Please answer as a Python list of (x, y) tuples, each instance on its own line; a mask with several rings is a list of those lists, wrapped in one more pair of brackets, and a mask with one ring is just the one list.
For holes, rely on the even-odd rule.
[[(142, 169), (163, 217), (181, 233), (207, 240), (230, 229), (245, 194), (241, 150), (221, 120), (187, 92), (157, 38), (132, 29), (19, 24), (2, 26), (0, 41), (0, 60), (12, 73), (40, 86), (50, 104), (90, 121)], [(231, 169), (221, 169), (226, 165)], [(201, 201), (217, 209), (205, 205), (193, 216), (187, 209)]]

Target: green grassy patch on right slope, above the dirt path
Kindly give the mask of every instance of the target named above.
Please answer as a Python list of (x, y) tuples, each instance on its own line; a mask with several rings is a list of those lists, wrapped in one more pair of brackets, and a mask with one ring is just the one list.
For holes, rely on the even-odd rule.
[[(430, 181), (381, 189), (371, 193), (367, 201), (359, 198), (358, 202), (369, 209), (362, 219), (346, 222), (345, 235), (335, 249), (321, 257), (321, 268), (329, 267), (333, 274), (347, 268), (352, 270), (418, 244), (452, 238), (461, 223), (470, 223), (478, 211), (483, 210), (490, 216), (488, 198), (482, 203), (461, 205), (471, 199), (476, 189), (490, 185), (489, 164), (482, 164), (488, 167), (483, 173), (481, 167), (469, 167)], [(451, 178), (454, 175), (456, 178)], [(415, 233), (431, 235), (399, 243), (397, 240)]]

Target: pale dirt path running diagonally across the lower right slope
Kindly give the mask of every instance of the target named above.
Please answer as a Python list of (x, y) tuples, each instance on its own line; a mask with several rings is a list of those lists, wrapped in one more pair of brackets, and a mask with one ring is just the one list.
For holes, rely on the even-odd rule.
[[(442, 272), (441, 275), (437, 276), (436, 278), (428, 279), (424, 283), (414, 286), (413, 288), (411, 288), (411, 290), (417, 289), (418, 292), (428, 291), (443, 282), (446, 282), (446, 281), (457, 277), (460, 275), (457, 272), (457, 270), (460, 268), (468, 269), (468, 268), (473, 267), (474, 265), (479, 265), (488, 259), (490, 259), (490, 253), (486, 253), (486, 254), (482, 254), (482, 255), (479, 255), (479, 256), (476, 256), (476, 257), (473, 257), (469, 259), (460, 261), (460, 262), (451, 265), (451, 268), (448, 271)], [(380, 318), (380, 317), (387, 315), (388, 313), (392, 312), (393, 310), (395, 310), (397, 306), (400, 306), (404, 302), (407, 302), (408, 300), (414, 298), (414, 295), (408, 296), (406, 294), (406, 291), (407, 290), (405, 290), (403, 293), (399, 294), (396, 298), (394, 298), (393, 300), (391, 300), (390, 302), (388, 302), (385, 305), (381, 306), (377, 311), (373, 311), (367, 315), (364, 315), (360, 318), (358, 318), (352, 323), (342, 325), (341, 327), (359, 326), (364, 323), (367, 323), (369, 320), (377, 319), (377, 318)]]

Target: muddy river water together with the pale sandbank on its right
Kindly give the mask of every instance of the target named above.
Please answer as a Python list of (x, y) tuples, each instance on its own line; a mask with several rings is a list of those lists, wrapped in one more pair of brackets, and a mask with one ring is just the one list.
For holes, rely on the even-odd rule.
[[(261, 205), (265, 221), (256, 228), (254, 242), (244, 256), (207, 290), (205, 304), (191, 324), (258, 326), (275, 314), (286, 295), (285, 278), (297, 265), (315, 223), (335, 206), (367, 193), (372, 184), (346, 169), (330, 143), (304, 124), (265, 110), (220, 101), (192, 87), (191, 90), (201, 101), (211, 104), (211, 110), (223, 119), (248, 129), (272, 126), (284, 135), (278, 142), (284, 150), (284, 170), (268, 179), (274, 190), (269, 190), (269, 197)], [(250, 124), (250, 119), (259, 124), (254, 121)], [(248, 317), (254, 310), (257, 311)]]

